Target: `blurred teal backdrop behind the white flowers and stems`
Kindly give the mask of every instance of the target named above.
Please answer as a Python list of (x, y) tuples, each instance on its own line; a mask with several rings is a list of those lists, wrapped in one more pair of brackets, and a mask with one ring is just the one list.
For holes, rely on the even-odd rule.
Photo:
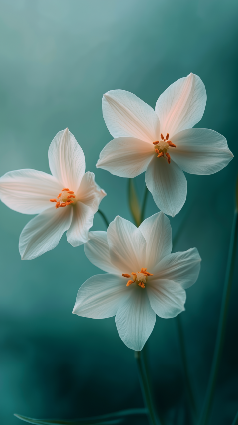
[[(199, 408), (214, 348), (238, 173), (238, 2), (236, 0), (0, 0), (0, 175), (49, 171), (47, 152), (68, 127), (86, 170), (108, 193), (100, 208), (132, 220), (127, 180), (97, 170), (111, 140), (102, 116), (105, 92), (124, 89), (153, 108), (191, 71), (207, 90), (198, 127), (222, 133), (235, 158), (211, 176), (186, 174), (188, 194), (171, 219), (176, 246), (196, 246), (201, 273), (181, 314)], [(144, 176), (136, 179), (144, 191)], [(146, 216), (157, 212), (149, 195)], [(185, 222), (183, 221), (186, 217)], [(53, 251), (21, 261), (18, 240), (32, 216), (0, 204), (0, 423), (75, 418), (143, 407), (134, 353), (114, 318), (72, 315), (81, 284), (100, 273), (62, 238)], [(106, 230), (99, 214), (93, 230)], [(65, 267), (66, 264), (66, 267)], [(211, 424), (231, 424), (238, 409), (238, 267)], [(157, 317), (148, 342), (156, 403), (167, 425), (189, 423), (174, 319)], [(130, 420), (145, 424), (146, 419)]]

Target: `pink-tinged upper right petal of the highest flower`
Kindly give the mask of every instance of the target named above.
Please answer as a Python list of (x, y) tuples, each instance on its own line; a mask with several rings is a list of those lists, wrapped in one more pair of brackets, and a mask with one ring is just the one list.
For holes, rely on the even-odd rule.
[(191, 73), (171, 84), (155, 107), (163, 135), (169, 133), (171, 138), (179, 131), (192, 128), (201, 120), (206, 101), (205, 86), (197, 75)]

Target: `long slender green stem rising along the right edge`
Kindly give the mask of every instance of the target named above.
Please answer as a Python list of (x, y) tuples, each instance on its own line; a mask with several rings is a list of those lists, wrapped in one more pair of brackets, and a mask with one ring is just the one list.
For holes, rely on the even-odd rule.
[(232, 232), (231, 232), (231, 238), (230, 238), (227, 269), (226, 269), (225, 283), (224, 283), (224, 289), (223, 289), (222, 304), (221, 304), (220, 317), (219, 317), (219, 323), (218, 323), (215, 350), (214, 350), (214, 355), (212, 360), (212, 367), (211, 367), (211, 372), (210, 372), (210, 377), (209, 377), (209, 382), (207, 387), (207, 393), (206, 393), (205, 402), (204, 402), (204, 406), (203, 406), (203, 410), (202, 410), (202, 414), (200, 418), (200, 425), (206, 425), (208, 423), (208, 420), (211, 414), (214, 390), (215, 390), (217, 374), (218, 374), (219, 364), (220, 364), (221, 355), (222, 355), (224, 336), (225, 336), (228, 304), (229, 304), (229, 298), (230, 298), (231, 287), (232, 287), (233, 270), (235, 265), (237, 232), (238, 232), (238, 212), (236, 210), (234, 213)]

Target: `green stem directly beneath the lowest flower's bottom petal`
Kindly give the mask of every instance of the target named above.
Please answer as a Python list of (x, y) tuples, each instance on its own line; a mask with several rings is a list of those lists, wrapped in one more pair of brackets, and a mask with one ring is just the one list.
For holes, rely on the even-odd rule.
[(161, 423), (157, 418), (157, 414), (156, 414), (154, 404), (153, 404), (153, 401), (152, 401), (148, 376), (147, 376), (146, 369), (145, 369), (144, 364), (143, 364), (143, 359), (142, 359), (143, 353), (142, 353), (142, 351), (143, 350), (135, 351), (135, 358), (136, 358), (137, 366), (138, 366), (138, 373), (139, 373), (141, 391), (142, 391), (145, 406), (148, 409), (148, 419), (149, 419), (150, 424), (151, 425), (160, 425)]

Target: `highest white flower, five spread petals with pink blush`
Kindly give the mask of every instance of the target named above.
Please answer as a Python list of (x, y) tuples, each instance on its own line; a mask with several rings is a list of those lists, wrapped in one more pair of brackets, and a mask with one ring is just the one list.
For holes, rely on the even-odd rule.
[(206, 90), (197, 75), (172, 84), (159, 97), (155, 111), (124, 90), (107, 92), (102, 103), (114, 140), (100, 153), (97, 167), (121, 177), (146, 171), (145, 182), (156, 205), (172, 217), (186, 200), (183, 171), (213, 174), (233, 158), (221, 134), (192, 128), (206, 105)]

